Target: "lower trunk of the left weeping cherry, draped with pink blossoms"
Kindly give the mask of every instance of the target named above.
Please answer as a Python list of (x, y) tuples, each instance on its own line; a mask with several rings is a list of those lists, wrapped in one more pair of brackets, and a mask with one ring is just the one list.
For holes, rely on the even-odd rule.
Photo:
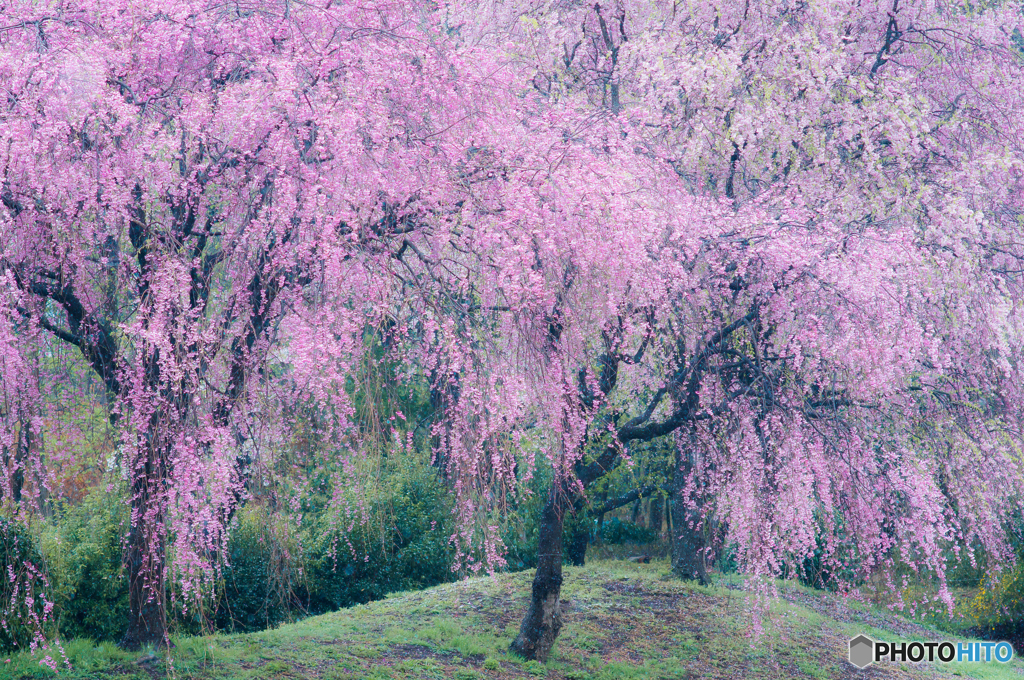
[[(161, 495), (166, 467), (157, 447), (146, 448), (144, 470), (134, 471), (132, 524), (128, 533), (125, 567), (128, 571), (128, 630), (121, 640), (124, 649), (168, 644), (164, 602), (164, 517)], [(141, 467), (141, 466), (140, 466)]]

